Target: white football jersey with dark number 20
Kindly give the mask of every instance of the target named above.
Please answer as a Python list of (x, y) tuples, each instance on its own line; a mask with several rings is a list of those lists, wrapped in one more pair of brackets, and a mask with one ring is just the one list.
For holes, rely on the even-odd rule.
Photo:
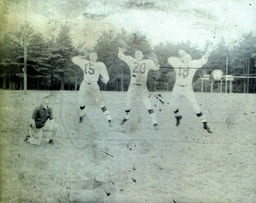
[(131, 71), (131, 82), (130, 84), (142, 84), (145, 85), (147, 82), (149, 70), (158, 70), (160, 67), (156, 65), (151, 59), (144, 59), (141, 61), (136, 60), (131, 56), (125, 56), (120, 53), (119, 58), (123, 60), (130, 68)]

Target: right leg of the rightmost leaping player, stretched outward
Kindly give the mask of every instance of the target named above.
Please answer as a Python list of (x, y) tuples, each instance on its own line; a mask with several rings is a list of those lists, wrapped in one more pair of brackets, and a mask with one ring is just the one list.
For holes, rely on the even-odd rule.
[(194, 112), (196, 113), (196, 116), (202, 121), (203, 128), (205, 130), (207, 130), (207, 132), (212, 133), (212, 131), (211, 131), (210, 127), (208, 126), (208, 123), (205, 119), (205, 116), (197, 103), (195, 93), (193, 92), (192, 88), (187, 89), (186, 93), (187, 94), (185, 96), (188, 99), (188, 101), (191, 103), (191, 106), (192, 106)]

